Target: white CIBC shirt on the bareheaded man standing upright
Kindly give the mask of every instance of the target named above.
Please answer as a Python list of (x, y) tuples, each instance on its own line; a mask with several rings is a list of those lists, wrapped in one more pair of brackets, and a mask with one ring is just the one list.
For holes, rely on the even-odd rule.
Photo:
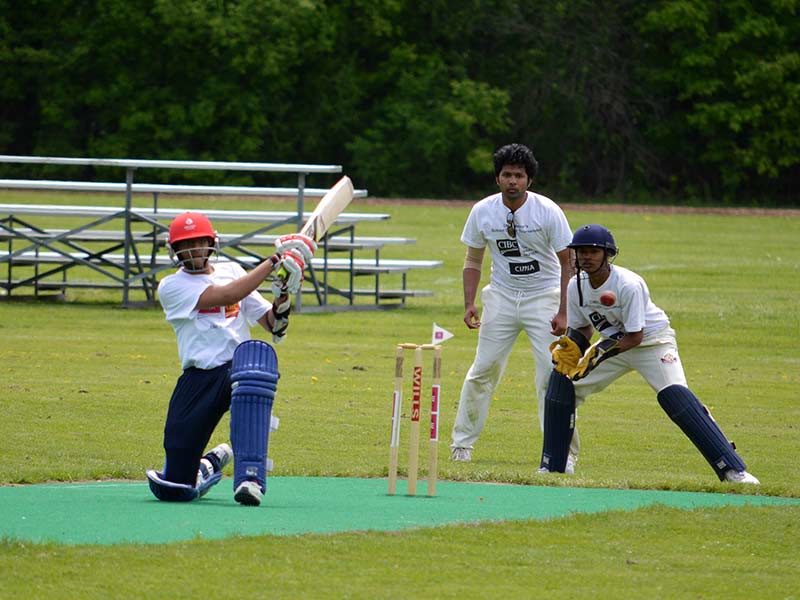
[(527, 194), (525, 203), (514, 212), (516, 239), (506, 232), (511, 211), (500, 193), (475, 203), (464, 225), (463, 243), (489, 248), (493, 287), (539, 292), (560, 285), (561, 263), (556, 252), (572, 241), (567, 217), (550, 198)]

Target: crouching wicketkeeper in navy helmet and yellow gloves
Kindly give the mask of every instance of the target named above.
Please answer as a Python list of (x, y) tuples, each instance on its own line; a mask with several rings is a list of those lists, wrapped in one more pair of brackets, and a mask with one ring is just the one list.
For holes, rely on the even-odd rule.
[[(697, 447), (720, 481), (758, 484), (708, 409), (686, 385), (675, 332), (636, 273), (612, 265), (618, 249), (601, 225), (578, 229), (569, 244), (577, 274), (567, 288), (567, 333), (551, 347), (553, 372), (545, 397), (539, 472), (565, 471), (575, 410), (591, 394), (630, 371)], [(593, 330), (600, 340), (590, 344)]]

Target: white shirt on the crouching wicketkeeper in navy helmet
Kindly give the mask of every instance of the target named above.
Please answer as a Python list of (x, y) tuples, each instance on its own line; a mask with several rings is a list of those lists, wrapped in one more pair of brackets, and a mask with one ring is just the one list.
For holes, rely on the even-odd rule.
[[(589, 275), (581, 271), (583, 306), (579, 304), (577, 277), (567, 287), (567, 325), (573, 329), (591, 325), (603, 337), (619, 338), (625, 333), (643, 331), (643, 346), (669, 325), (667, 314), (650, 299), (644, 279), (626, 269), (611, 265), (611, 274), (599, 288), (589, 283)], [(603, 306), (600, 296), (613, 292), (613, 306)]]

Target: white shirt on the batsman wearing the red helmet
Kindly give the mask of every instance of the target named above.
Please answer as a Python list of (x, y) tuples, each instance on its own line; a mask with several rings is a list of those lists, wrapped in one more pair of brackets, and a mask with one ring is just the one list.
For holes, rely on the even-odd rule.
[(231, 306), (197, 310), (200, 295), (210, 285), (225, 285), (245, 275), (237, 263), (213, 263), (210, 275), (191, 275), (181, 268), (158, 285), (158, 299), (178, 338), (184, 369), (212, 369), (231, 360), (240, 343), (250, 339), (250, 327), (272, 304), (257, 291)]

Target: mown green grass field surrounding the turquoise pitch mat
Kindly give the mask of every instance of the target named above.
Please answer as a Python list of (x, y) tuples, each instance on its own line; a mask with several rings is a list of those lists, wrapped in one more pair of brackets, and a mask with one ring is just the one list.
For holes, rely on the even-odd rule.
[[(2, 193), (0, 201), (118, 200)], [(253, 201), (194, 204), (246, 208)], [(418, 239), (382, 256), (444, 261), (441, 269), (410, 275), (412, 287), (436, 295), (399, 311), (294, 319), (278, 348), (275, 474), (385, 477), (393, 345), (429, 340), (436, 321), (456, 334), (444, 348), (442, 478), (800, 497), (800, 219), (567, 211), (573, 228), (600, 222), (614, 232), (619, 264), (642, 274), (670, 315), (690, 386), (761, 479), (760, 488), (742, 490), (717, 481), (634, 376), (581, 410), (576, 475), (535, 475), (541, 434), (523, 339), (474, 461), (447, 460), (476, 342), (461, 323), (458, 238), (469, 206), (356, 201), (354, 210), (392, 215), (388, 223), (359, 226), (359, 234)], [(291, 205), (259, 205), (266, 207)], [(0, 302), (0, 483), (143, 480), (145, 469), (161, 464), (163, 418), (178, 375), (174, 337), (160, 310), (121, 309), (118, 301), (119, 294), (85, 291), (63, 303)], [(212, 441), (226, 433), (223, 422)], [(0, 597), (797, 598), (798, 534), (797, 507), (654, 507), (548, 522), (160, 547), (4, 542)]]

